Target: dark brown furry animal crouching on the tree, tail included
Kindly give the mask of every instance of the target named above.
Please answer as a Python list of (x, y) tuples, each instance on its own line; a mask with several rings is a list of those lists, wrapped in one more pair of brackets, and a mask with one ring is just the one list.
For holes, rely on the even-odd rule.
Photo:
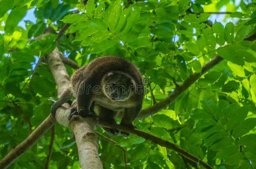
[[(141, 111), (144, 98), (143, 79), (138, 68), (131, 62), (116, 56), (99, 57), (87, 66), (78, 69), (71, 76), (71, 85), (60, 99), (52, 105), (51, 114), (71, 97), (77, 98), (77, 106), (71, 108), (73, 114), (82, 117), (98, 116), (99, 120), (115, 124), (115, 116), (123, 112), (120, 124), (136, 128), (133, 121)], [(118, 130), (104, 128), (108, 133), (117, 135)], [(122, 132), (128, 136), (128, 133)]]

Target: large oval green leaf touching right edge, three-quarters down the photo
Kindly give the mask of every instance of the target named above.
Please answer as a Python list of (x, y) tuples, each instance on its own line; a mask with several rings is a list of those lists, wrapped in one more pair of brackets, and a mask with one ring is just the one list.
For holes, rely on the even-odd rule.
[(240, 137), (244, 134), (248, 133), (251, 129), (253, 129), (256, 126), (256, 118), (248, 118), (240, 123), (239, 126), (237, 126), (233, 130), (233, 136), (234, 137)]

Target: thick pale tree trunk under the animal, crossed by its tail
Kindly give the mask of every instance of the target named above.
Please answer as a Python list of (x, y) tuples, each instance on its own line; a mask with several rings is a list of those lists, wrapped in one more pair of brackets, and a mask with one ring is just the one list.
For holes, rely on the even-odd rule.
[[(69, 76), (61, 61), (61, 53), (55, 48), (52, 55), (47, 57), (47, 63), (58, 86), (58, 96), (69, 86)], [(102, 162), (98, 154), (98, 139), (94, 132), (96, 122), (90, 118), (76, 118), (68, 121), (68, 116), (63, 116), (63, 108), (56, 111), (56, 120), (72, 129), (76, 138), (79, 162), (82, 169), (102, 169)]]

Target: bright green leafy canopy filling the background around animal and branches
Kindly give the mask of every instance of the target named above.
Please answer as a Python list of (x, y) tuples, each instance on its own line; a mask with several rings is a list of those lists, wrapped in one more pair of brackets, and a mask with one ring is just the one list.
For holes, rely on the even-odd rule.
[[(0, 159), (49, 115), (57, 92), (43, 57), (68, 25), (57, 46), (65, 58), (84, 66), (119, 55), (150, 79), (143, 108), (201, 73), (214, 55), (224, 58), (165, 110), (135, 124), (213, 167), (256, 168), (256, 38), (244, 40), (256, 31), (255, 0), (1, 0), (0, 23)], [(198, 166), (139, 136), (97, 131), (126, 149), (128, 168)], [(44, 168), (50, 134), (10, 168)], [(104, 168), (124, 166), (120, 147), (101, 138), (99, 154)], [(72, 133), (58, 124), (50, 166), (80, 168)]]

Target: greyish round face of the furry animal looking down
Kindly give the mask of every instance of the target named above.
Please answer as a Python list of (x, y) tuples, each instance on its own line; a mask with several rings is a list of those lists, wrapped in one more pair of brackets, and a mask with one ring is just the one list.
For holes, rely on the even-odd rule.
[(135, 82), (125, 73), (111, 72), (104, 77), (102, 87), (112, 101), (125, 101), (135, 91)]

